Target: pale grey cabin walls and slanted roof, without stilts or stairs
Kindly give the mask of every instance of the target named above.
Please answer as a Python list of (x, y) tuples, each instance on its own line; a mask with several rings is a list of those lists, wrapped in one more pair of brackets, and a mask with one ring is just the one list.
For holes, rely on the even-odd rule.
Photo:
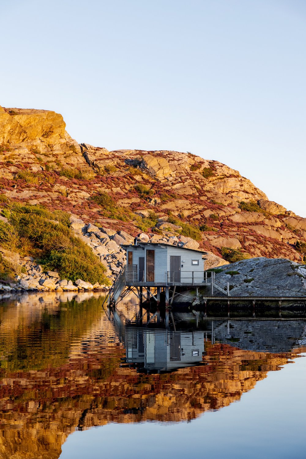
[(203, 255), (207, 252), (139, 242), (122, 245), (127, 251), (126, 285), (200, 285), (204, 278)]

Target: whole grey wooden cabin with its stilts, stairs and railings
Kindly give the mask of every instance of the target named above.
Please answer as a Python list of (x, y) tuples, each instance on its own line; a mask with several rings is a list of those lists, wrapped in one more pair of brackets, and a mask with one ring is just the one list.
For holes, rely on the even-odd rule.
[(112, 285), (108, 304), (116, 305), (119, 298), (133, 291), (144, 300), (153, 299), (157, 307), (161, 295), (168, 308), (174, 298), (182, 295), (182, 290), (195, 290), (195, 296), (201, 286), (211, 285), (211, 290), (224, 288), (214, 282), (214, 273), (204, 271), (205, 255), (207, 252), (172, 246), (160, 242), (140, 242), (137, 238), (134, 244), (122, 244), (126, 250), (127, 264), (122, 268)]

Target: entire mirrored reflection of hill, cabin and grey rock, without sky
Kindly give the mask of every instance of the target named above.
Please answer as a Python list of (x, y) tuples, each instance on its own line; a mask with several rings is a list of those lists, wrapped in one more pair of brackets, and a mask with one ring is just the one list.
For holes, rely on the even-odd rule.
[[(131, 298), (0, 302), (0, 456), (55, 458), (73, 431), (110, 422), (190, 421), (238, 401), (301, 352), (305, 319), (134, 323)], [(197, 325), (197, 327), (196, 327)]]

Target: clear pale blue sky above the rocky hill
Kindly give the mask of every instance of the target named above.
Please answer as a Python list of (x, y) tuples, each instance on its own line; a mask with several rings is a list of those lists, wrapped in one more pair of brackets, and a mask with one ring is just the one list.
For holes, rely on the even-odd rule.
[(219, 160), (306, 217), (305, 1), (0, 0), (0, 20), (0, 105)]

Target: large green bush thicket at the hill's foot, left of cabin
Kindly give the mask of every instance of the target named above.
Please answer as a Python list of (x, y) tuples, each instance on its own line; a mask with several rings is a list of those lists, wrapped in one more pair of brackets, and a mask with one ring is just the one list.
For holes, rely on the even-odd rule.
[(19, 251), (27, 247), (27, 255), (37, 257), (45, 269), (58, 271), (62, 279), (109, 284), (105, 267), (89, 246), (75, 237), (69, 225), (65, 212), (13, 204), (10, 223), (0, 222), (0, 244), (14, 245)]

